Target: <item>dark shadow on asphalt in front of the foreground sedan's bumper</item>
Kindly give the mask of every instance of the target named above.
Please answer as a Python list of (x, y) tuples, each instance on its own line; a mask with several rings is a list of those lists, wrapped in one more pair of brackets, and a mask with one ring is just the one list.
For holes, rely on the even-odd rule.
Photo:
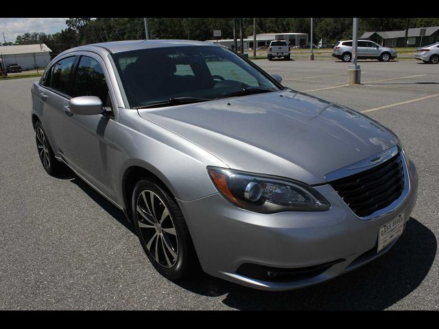
[(381, 258), (313, 287), (287, 292), (259, 291), (203, 276), (178, 283), (193, 293), (218, 297), (239, 310), (383, 310), (423, 282), (436, 256), (433, 232), (416, 219)]

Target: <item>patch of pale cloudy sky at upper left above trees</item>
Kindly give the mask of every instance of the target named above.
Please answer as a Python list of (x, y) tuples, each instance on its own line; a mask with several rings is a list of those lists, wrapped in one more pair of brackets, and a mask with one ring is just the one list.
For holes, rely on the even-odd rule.
[(5, 34), (6, 42), (15, 42), (17, 36), (25, 33), (44, 32), (54, 34), (66, 29), (67, 19), (1, 19), (0, 18), (0, 42), (3, 42)]

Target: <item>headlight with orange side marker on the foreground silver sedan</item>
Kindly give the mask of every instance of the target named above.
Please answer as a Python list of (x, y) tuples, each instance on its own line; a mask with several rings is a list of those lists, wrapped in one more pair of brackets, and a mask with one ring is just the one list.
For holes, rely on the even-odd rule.
[(236, 206), (255, 212), (323, 211), (330, 208), (311, 186), (294, 180), (207, 167), (219, 193)]

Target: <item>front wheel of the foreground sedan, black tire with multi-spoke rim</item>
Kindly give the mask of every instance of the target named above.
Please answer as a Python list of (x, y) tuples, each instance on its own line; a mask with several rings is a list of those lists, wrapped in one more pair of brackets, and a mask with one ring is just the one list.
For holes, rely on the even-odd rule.
[[(169, 215), (163, 218), (166, 210)], [(132, 214), (139, 241), (158, 273), (177, 281), (201, 272), (185, 217), (166, 188), (146, 178), (139, 180), (132, 193)]]

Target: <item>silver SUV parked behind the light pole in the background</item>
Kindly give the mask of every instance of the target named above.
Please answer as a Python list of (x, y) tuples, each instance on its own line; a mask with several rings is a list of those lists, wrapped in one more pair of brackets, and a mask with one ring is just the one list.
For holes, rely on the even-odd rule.
[[(333, 48), (332, 56), (343, 62), (352, 60), (352, 40), (339, 41)], [(381, 62), (388, 62), (397, 57), (396, 50), (390, 47), (381, 47), (370, 40), (358, 40), (357, 58), (377, 59)]]

